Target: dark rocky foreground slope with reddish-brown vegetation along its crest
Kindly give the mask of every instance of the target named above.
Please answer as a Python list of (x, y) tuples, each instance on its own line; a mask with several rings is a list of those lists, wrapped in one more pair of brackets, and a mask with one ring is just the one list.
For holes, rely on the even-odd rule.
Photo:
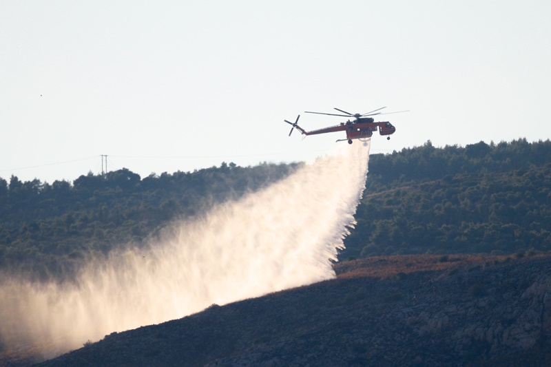
[(550, 266), (541, 256), (344, 262), (336, 280), (106, 335), (40, 366), (548, 366)]

